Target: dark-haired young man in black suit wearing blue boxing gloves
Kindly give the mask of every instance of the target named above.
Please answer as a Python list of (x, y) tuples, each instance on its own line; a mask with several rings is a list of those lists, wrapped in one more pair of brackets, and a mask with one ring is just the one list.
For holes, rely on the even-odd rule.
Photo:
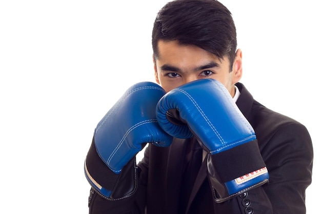
[(230, 11), (213, 0), (170, 2), (152, 46), (162, 88), (132, 86), (98, 123), (85, 161), (89, 212), (305, 213), (309, 133), (238, 82)]

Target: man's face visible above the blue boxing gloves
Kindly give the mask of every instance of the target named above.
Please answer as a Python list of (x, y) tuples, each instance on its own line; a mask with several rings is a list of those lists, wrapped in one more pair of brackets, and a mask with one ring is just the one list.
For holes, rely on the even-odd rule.
[(236, 52), (232, 72), (228, 57), (219, 61), (217, 56), (197, 46), (159, 41), (158, 50), (155, 80), (166, 92), (194, 80), (211, 78), (222, 83), (234, 96), (234, 84), (242, 77), (240, 50)]

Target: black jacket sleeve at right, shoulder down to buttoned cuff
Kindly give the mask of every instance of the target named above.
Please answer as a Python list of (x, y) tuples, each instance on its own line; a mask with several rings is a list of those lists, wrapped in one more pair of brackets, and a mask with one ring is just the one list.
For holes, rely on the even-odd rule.
[[(215, 203), (216, 210), (256, 214), (306, 213), (305, 191), (312, 181), (313, 163), (310, 135), (302, 124), (290, 122), (269, 133), (268, 137), (260, 146), (260, 152), (269, 170), (269, 183), (230, 201)], [(235, 209), (237, 206), (231, 206), (234, 203), (238, 204), (239, 211)]]

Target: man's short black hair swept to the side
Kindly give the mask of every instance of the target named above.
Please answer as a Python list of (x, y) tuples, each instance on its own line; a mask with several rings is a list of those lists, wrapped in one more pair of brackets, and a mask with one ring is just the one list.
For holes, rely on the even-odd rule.
[(227, 56), (232, 70), (236, 52), (236, 28), (231, 12), (215, 0), (174, 0), (157, 13), (152, 31), (154, 57), (158, 41), (177, 40), (216, 55)]

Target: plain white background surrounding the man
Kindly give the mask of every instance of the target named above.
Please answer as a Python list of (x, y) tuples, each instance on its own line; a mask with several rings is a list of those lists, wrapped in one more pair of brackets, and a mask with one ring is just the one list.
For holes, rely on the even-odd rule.
[[(154, 82), (151, 30), (166, 2), (0, 2), (1, 213), (88, 213), (83, 164), (94, 128), (129, 86)], [(311, 214), (321, 179), (318, 3), (222, 3), (243, 50), (240, 82), (310, 131)]]

